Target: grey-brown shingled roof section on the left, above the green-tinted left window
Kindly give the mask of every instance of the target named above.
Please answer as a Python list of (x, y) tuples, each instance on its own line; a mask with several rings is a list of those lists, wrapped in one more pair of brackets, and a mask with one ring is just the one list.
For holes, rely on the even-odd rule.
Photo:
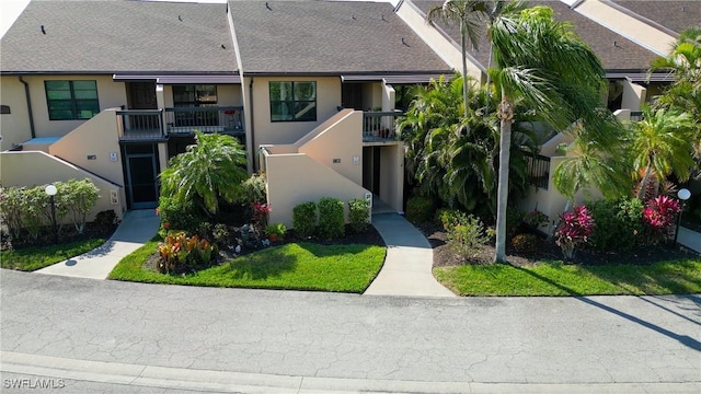
[(0, 50), (3, 73), (238, 70), (226, 4), (32, 1)]

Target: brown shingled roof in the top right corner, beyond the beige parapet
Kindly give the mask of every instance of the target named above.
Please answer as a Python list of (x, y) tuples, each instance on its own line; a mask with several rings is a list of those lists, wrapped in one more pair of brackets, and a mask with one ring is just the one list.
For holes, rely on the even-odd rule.
[(611, 2), (632, 11), (630, 14), (639, 20), (652, 21), (653, 24), (662, 25), (675, 33), (681, 33), (693, 26), (701, 27), (701, 1), (698, 0), (614, 0)]

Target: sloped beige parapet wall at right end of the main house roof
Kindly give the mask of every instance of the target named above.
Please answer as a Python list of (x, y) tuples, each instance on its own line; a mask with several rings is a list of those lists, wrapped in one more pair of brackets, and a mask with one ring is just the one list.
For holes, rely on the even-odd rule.
[[(413, 31), (424, 40), (434, 51), (452, 69), (462, 72), (462, 51), (460, 46), (446, 38), (438, 30), (426, 23), (424, 16), (416, 5), (410, 1), (402, 2), (397, 11), (399, 18), (402, 19)], [(468, 59), (468, 74), (476, 81), (485, 80), (482, 71)]]

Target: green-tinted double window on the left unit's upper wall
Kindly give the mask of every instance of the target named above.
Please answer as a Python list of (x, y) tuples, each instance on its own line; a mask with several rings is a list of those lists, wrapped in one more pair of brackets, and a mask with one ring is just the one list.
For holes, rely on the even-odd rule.
[(90, 119), (100, 113), (95, 81), (44, 81), (49, 120)]

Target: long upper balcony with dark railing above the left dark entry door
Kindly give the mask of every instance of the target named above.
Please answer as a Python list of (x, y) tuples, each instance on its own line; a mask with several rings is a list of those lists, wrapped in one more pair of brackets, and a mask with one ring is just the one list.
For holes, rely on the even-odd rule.
[(162, 140), (188, 137), (195, 130), (242, 137), (242, 106), (177, 107), (117, 111), (120, 140)]

